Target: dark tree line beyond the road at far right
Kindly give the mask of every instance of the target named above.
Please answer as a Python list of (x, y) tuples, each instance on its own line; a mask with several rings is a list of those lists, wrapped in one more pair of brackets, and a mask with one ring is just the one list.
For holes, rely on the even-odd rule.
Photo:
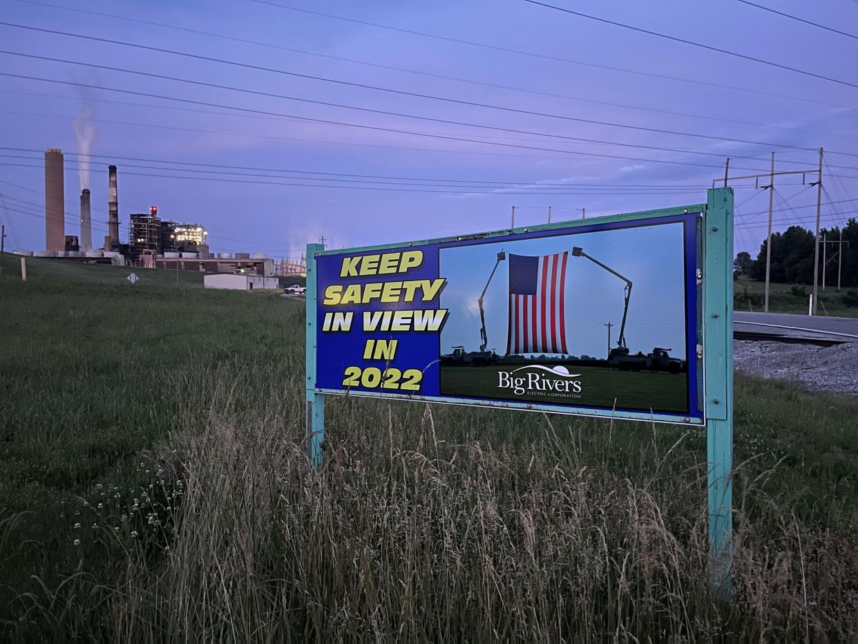
[[(822, 283), (822, 239), (839, 241), (841, 229), (819, 230), (819, 283)], [(844, 287), (858, 286), (858, 220), (849, 219), (843, 227), (843, 261), (841, 283)], [(847, 245), (845, 242), (849, 242)], [(770, 281), (790, 284), (813, 284), (813, 231), (801, 226), (790, 226), (782, 233), (771, 234)], [(754, 280), (765, 279), (766, 240), (759, 246), (756, 259), (745, 251), (736, 255), (734, 276), (746, 275)], [(837, 245), (828, 244), (825, 250), (825, 282), (837, 285)]]

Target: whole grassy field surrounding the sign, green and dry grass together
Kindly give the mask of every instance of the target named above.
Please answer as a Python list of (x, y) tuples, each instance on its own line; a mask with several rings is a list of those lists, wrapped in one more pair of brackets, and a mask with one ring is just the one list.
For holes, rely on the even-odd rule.
[(858, 400), (739, 377), (734, 605), (703, 430), (330, 398), (303, 305), (0, 283), (0, 641), (855, 641)]

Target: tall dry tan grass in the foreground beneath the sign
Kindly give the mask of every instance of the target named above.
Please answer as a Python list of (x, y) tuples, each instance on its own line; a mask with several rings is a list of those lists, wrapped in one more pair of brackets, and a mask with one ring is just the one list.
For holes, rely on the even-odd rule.
[(159, 454), (186, 484), (178, 536), (130, 558), (120, 639), (855, 639), (858, 550), (766, 495), (771, 471), (739, 472), (733, 607), (710, 594), (692, 434), (335, 399), (316, 472), (300, 382), (249, 409), (186, 381), (207, 415)]

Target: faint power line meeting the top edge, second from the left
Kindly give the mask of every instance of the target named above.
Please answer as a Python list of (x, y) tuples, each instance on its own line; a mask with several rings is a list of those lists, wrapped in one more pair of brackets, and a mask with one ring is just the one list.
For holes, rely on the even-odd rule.
[[(19, 0), (19, 2), (29, 2), (29, 1), (30, 0)], [(270, 0), (251, 0), (251, 2), (258, 3), (258, 4), (267, 4), (271, 7), (277, 7), (278, 9), (287, 9), (289, 11), (297, 11), (297, 12), (304, 13), (304, 14), (317, 15), (317, 16), (320, 16), (323, 18), (331, 18), (331, 19), (339, 20), (339, 21), (353, 22), (355, 24), (365, 25), (367, 27), (378, 27), (379, 29), (387, 29), (387, 30), (394, 31), (394, 32), (409, 33), (409, 34), (415, 35), (415, 36), (422, 36), (424, 38), (431, 38), (431, 39), (443, 40), (446, 42), (453, 42), (453, 43), (457, 43), (459, 45), (480, 47), (482, 49), (494, 50), (496, 52), (512, 53), (512, 54), (517, 54), (520, 56), (528, 56), (531, 58), (542, 58), (542, 59), (551, 60), (551, 61), (554, 61), (557, 63), (583, 65), (585, 67), (593, 67), (595, 69), (600, 69), (600, 70), (620, 71), (620, 72), (623, 72), (626, 74), (635, 74), (637, 76), (649, 76), (650, 78), (661, 78), (661, 79), (668, 80), (668, 81), (690, 82), (690, 83), (693, 83), (695, 85), (704, 85), (706, 87), (731, 89), (734, 91), (746, 92), (749, 94), (761, 94), (764, 96), (773, 96), (775, 98), (781, 98), (781, 99), (802, 100), (805, 102), (816, 103), (819, 105), (826, 105), (826, 106), (831, 106), (831, 107), (842, 107), (845, 109), (852, 109), (851, 106), (837, 105), (834, 103), (827, 103), (825, 101), (807, 99), (807, 98), (800, 97), (800, 96), (790, 96), (788, 94), (774, 94), (771, 92), (764, 92), (764, 91), (758, 90), (758, 89), (740, 88), (740, 87), (735, 87), (734, 85), (724, 85), (724, 84), (717, 83), (717, 82), (699, 81), (699, 80), (692, 79), (692, 78), (683, 78), (681, 76), (668, 76), (665, 74), (655, 74), (655, 73), (640, 71), (640, 70), (628, 70), (628, 69), (625, 69), (622, 67), (612, 67), (610, 65), (602, 65), (602, 64), (595, 64), (595, 63), (584, 63), (583, 61), (572, 60), (571, 58), (560, 58), (558, 56), (549, 56), (547, 54), (540, 54), (540, 53), (535, 53), (535, 52), (526, 52), (526, 51), (523, 51), (520, 49), (511, 49), (509, 47), (488, 45), (486, 43), (474, 42), (473, 40), (450, 38), (448, 36), (438, 35), (437, 33), (426, 33), (426, 32), (414, 31), (413, 29), (403, 29), (402, 27), (391, 27), (390, 25), (383, 25), (383, 24), (380, 24), (378, 22), (362, 21), (362, 20), (357, 20), (355, 18), (347, 18), (343, 15), (325, 14), (325, 13), (322, 13), (321, 11), (313, 11), (311, 9), (302, 9), (300, 7), (291, 7), (291, 6), (288, 6), (286, 4), (270, 2)]]

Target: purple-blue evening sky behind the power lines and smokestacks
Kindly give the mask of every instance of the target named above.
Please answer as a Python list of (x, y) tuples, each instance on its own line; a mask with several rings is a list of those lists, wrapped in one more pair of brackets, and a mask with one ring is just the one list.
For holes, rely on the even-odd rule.
[[(858, 187), (858, 156), (835, 154), (836, 151), (858, 153), (858, 147), (855, 146), (855, 141), (858, 141), (858, 118), (851, 107), (856, 104), (858, 88), (776, 70), (716, 52), (705, 52), (643, 33), (632, 33), (521, 0), (502, 0), (498, 3), (485, 0), (474, 3), (347, 3), (333, 0), (308, 3), (305, 0), (282, 0), (282, 3), (290, 1), (299, 8), (435, 33), (453, 39), (474, 40), (589, 64), (787, 94), (805, 100), (776, 98), (492, 51), (281, 9), (250, 0), (112, 4), (91, 0), (76, 3), (65, 0), (63, 4), (57, 0), (56, 4), (57, 7), (62, 4), (66, 7), (75, 6), (76, 9), (121, 15), (137, 22), (56, 9), (43, 3), (6, 0), (3, 3), (5, 10), (2, 20), (31, 27), (157, 46), (456, 100), (763, 143), (731, 143), (455, 105), (2, 26), (3, 49), (11, 52), (68, 58), (257, 92), (288, 94), (468, 124), (688, 151), (668, 152), (576, 143), (533, 134), (447, 125), (0, 54), (0, 70), (7, 73), (147, 94), (118, 94), (0, 76), (0, 96), (3, 100), (0, 110), (3, 113), (3, 118), (0, 118), (0, 141), (3, 143), (0, 145), (36, 150), (0, 150), (2, 155), (11, 155), (0, 157), (0, 196), (3, 197), (0, 200), (0, 217), (10, 229), (7, 247), (41, 249), (45, 246), (41, 152), (49, 147), (61, 148), (65, 153), (82, 152), (75, 133), (76, 118), (79, 134), (82, 137), (90, 134), (94, 138), (92, 154), (102, 155), (93, 158), (89, 186), (93, 192), (94, 241), (100, 240), (105, 234), (106, 166), (111, 162), (119, 167), (119, 212), (123, 238), (127, 234), (129, 213), (144, 212), (150, 204), (157, 204), (160, 215), (165, 218), (199, 222), (207, 226), (212, 250), (269, 252), (278, 258), (298, 257), (308, 241), (317, 241), (321, 235), (324, 235), (329, 245), (340, 247), (503, 228), (509, 225), (513, 205), (517, 207), (517, 224), (524, 225), (544, 222), (548, 205), (553, 206), (553, 220), (559, 221), (580, 216), (580, 211), (576, 209), (581, 208), (587, 209), (588, 216), (595, 216), (699, 203), (705, 201), (705, 188), (711, 185), (712, 179), (723, 176), (722, 167), (726, 156), (732, 157), (731, 170), (734, 167), (746, 168), (735, 169), (731, 174), (767, 172), (770, 151), (773, 149), (776, 151), (778, 170), (814, 170), (817, 154), (813, 149), (824, 146), (826, 150), (831, 150), (831, 154), (825, 155), (831, 169), (825, 168), (823, 201), (837, 204), (823, 207), (824, 225), (843, 222), (845, 218), (853, 216), (851, 213), (858, 205), (848, 201), (852, 196), (850, 191)], [(51, 0), (48, 2), (52, 3)], [(772, 0), (760, 0), (760, 3), (847, 31), (858, 26), (858, 3), (849, 0), (832, 0), (831, 3), (813, 7), (795, 0), (776, 4)], [(178, 8), (179, 4), (181, 8)], [(571, 3), (561, 3), (560, 0), (558, 4), (570, 8), (573, 6)], [(802, 25), (734, 0), (710, 0), (705, 3), (673, 0), (656, 4), (627, 1), (606, 4), (587, 0), (574, 3), (574, 8), (858, 83), (854, 64), (858, 56), (858, 40)], [(155, 21), (174, 27), (255, 40), (274, 47), (146, 25), (139, 21)], [(858, 27), (853, 31), (858, 33)], [(289, 52), (284, 51), (283, 47), (327, 57), (350, 58), (375, 65), (416, 70), (424, 75)], [(529, 91), (486, 87), (425, 74), (456, 76)], [(529, 148), (680, 161), (712, 167), (600, 159), (560, 151), (462, 143), (299, 119), (259, 118), (259, 115), (251, 118), (246, 112), (242, 114), (229, 109), (193, 106), (153, 98), (150, 94)], [(609, 106), (572, 98), (633, 107)], [(641, 107), (647, 110), (637, 109)], [(683, 112), (710, 118), (663, 112)], [(88, 129), (90, 126), (92, 130)], [(772, 143), (794, 145), (807, 150), (773, 148)], [(738, 156), (754, 158), (739, 159), (736, 158)], [(154, 161), (130, 161), (118, 157)], [(76, 159), (74, 155), (66, 155), (65, 210), (71, 221), (76, 220), (81, 188), (77, 164), (74, 162)], [(276, 178), (267, 179), (241, 178), (192, 173), (189, 166), (181, 165), (176, 165), (175, 170), (166, 171), (163, 168), (170, 164), (165, 161), (296, 170), (302, 174), (280, 173)], [(159, 169), (146, 170), (132, 166)], [(206, 169), (199, 166), (193, 168)], [(269, 172), (229, 168), (221, 170), (275, 177), (275, 173)], [(143, 173), (179, 175), (184, 179), (140, 176)], [(376, 182), (340, 184), (364, 188), (353, 190), (333, 187), (335, 183), (329, 180), (332, 177), (319, 173), (417, 180), (333, 177)], [(190, 176), (221, 180), (186, 179)], [(291, 178), (286, 179), (287, 176)], [(310, 180), (311, 177), (323, 180)], [(432, 183), (425, 179), (444, 181), (434, 182), (437, 186), (401, 185), (399, 191), (391, 183), (378, 183)], [(524, 182), (528, 187), (453, 187), (455, 184), (450, 183), (452, 179), (462, 186), (473, 186), (475, 181), (492, 181), (498, 183), (480, 185)], [(248, 180), (266, 183), (247, 183)], [(807, 180), (813, 179), (808, 177)], [(269, 185), (272, 182), (315, 184), (321, 187)], [(540, 186), (541, 182), (588, 187)], [(737, 185), (748, 183), (737, 182)], [(766, 216), (754, 213), (767, 209), (768, 195), (766, 191), (753, 188), (752, 182), (750, 184), (750, 187), (737, 187), (736, 191), (736, 203), (739, 204), (736, 247), (737, 250), (750, 250), (756, 255), (759, 241), (765, 234)], [(623, 185), (666, 187), (620, 187)], [(801, 175), (776, 178), (776, 188), (775, 208), (779, 210), (775, 213), (776, 229), (795, 222), (812, 226), (815, 211), (810, 206), (815, 204), (815, 189), (801, 185)], [(524, 194), (561, 191), (564, 194)], [(66, 233), (77, 234), (76, 223), (67, 223)]]

